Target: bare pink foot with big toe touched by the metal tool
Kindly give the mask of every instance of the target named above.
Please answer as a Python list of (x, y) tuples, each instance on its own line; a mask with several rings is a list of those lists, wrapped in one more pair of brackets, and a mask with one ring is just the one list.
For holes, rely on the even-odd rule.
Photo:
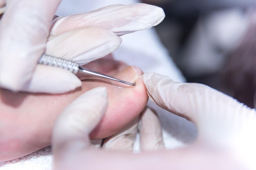
[(85, 66), (128, 82), (136, 81), (137, 85), (132, 87), (80, 75), (81, 80), (86, 78), (82, 87), (65, 94), (15, 94), (0, 89), (0, 161), (15, 159), (49, 146), (58, 114), (92, 88), (107, 87), (109, 102), (106, 115), (90, 134), (91, 139), (102, 139), (117, 133), (141, 113), (148, 100), (140, 77), (141, 70), (127, 67), (110, 56)]

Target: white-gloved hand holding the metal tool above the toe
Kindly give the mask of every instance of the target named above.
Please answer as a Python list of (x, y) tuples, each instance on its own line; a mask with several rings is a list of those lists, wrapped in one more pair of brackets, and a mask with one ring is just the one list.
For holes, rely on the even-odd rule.
[[(150, 28), (164, 18), (162, 9), (158, 7), (131, 4), (57, 18), (51, 26), (59, 2), (10, 0), (5, 9), (2, 8), (5, 13), (0, 20), (0, 87), (46, 93), (73, 90), (81, 86), (81, 81), (74, 74), (37, 65), (44, 51), (83, 65), (118, 48), (121, 39), (111, 31), (123, 35)], [(2, 4), (4, 1), (0, 1)], [(95, 26), (101, 28), (89, 28)], [(50, 27), (53, 29), (47, 39)], [(59, 50), (62, 52), (57, 55)]]

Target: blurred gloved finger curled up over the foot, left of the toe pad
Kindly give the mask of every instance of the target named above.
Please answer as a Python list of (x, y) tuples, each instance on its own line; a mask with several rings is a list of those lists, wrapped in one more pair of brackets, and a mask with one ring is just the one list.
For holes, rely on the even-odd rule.
[(79, 96), (57, 118), (52, 133), (55, 161), (90, 148), (89, 133), (99, 123), (108, 105), (106, 87)]

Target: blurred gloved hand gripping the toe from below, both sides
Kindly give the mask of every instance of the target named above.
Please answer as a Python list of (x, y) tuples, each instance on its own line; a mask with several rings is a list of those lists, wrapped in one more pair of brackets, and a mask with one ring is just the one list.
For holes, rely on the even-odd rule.
[(57, 119), (52, 138), (55, 169), (256, 168), (255, 110), (205, 85), (178, 83), (153, 73), (144, 74), (143, 78), (150, 98), (157, 105), (198, 126), (194, 144), (140, 154), (92, 149), (88, 134), (108, 105), (106, 90), (97, 88), (74, 101)]

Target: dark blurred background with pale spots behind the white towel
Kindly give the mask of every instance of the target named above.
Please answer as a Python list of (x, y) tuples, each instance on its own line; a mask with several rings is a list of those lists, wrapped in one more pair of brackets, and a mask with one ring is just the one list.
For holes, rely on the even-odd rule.
[(164, 9), (157, 32), (188, 82), (256, 106), (256, 0), (143, 2)]

